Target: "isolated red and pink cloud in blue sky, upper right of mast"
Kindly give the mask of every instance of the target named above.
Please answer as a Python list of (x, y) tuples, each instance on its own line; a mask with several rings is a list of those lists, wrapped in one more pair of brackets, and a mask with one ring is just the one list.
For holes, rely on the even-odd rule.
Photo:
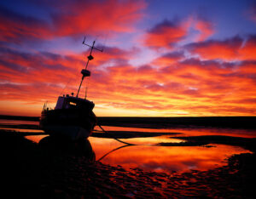
[(196, 42), (205, 41), (215, 32), (212, 22), (199, 16), (190, 15), (184, 19), (162, 20), (144, 35), (144, 45), (155, 49), (173, 49), (190, 36), (191, 30), (196, 31), (195, 37), (192, 38)]

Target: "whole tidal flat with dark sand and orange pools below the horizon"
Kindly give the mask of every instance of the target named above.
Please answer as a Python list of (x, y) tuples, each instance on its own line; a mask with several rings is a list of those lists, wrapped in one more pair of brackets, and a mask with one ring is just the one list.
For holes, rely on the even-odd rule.
[(255, 197), (254, 129), (106, 126), (71, 142), (23, 124), (34, 126), (2, 122), (0, 131), (9, 197)]

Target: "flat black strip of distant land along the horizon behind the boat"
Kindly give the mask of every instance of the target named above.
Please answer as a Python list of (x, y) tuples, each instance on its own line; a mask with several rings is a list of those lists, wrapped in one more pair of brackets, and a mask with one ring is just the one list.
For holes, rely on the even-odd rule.
[[(39, 121), (39, 117), (0, 115), (0, 119)], [(103, 126), (134, 128), (246, 128), (256, 129), (256, 117), (97, 117)]]

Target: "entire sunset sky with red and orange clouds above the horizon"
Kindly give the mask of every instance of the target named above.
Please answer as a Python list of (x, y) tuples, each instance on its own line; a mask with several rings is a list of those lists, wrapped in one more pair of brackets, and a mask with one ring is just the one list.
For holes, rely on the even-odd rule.
[(256, 1), (3, 0), (0, 114), (76, 94), (98, 117), (256, 115)]

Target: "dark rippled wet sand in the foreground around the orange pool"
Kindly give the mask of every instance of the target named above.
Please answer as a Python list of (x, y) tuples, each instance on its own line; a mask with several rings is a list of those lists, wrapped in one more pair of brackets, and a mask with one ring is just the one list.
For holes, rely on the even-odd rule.
[[(171, 135), (172, 136), (172, 135)], [(182, 139), (182, 137), (180, 137)], [(186, 137), (188, 144), (227, 144), (218, 136)], [(90, 145), (49, 137), (39, 144), (15, 132), (1, 130), (3, 190), (11, 196), (32, 198), (255, 198), (255, 139), (236, 139), (230, 145), (249, 146), (253, 154), (227, 159), (208, 171), (155, 173), (125, 170), (95, 162)], [(170, 160), (172, 161), (172, 160)]]

